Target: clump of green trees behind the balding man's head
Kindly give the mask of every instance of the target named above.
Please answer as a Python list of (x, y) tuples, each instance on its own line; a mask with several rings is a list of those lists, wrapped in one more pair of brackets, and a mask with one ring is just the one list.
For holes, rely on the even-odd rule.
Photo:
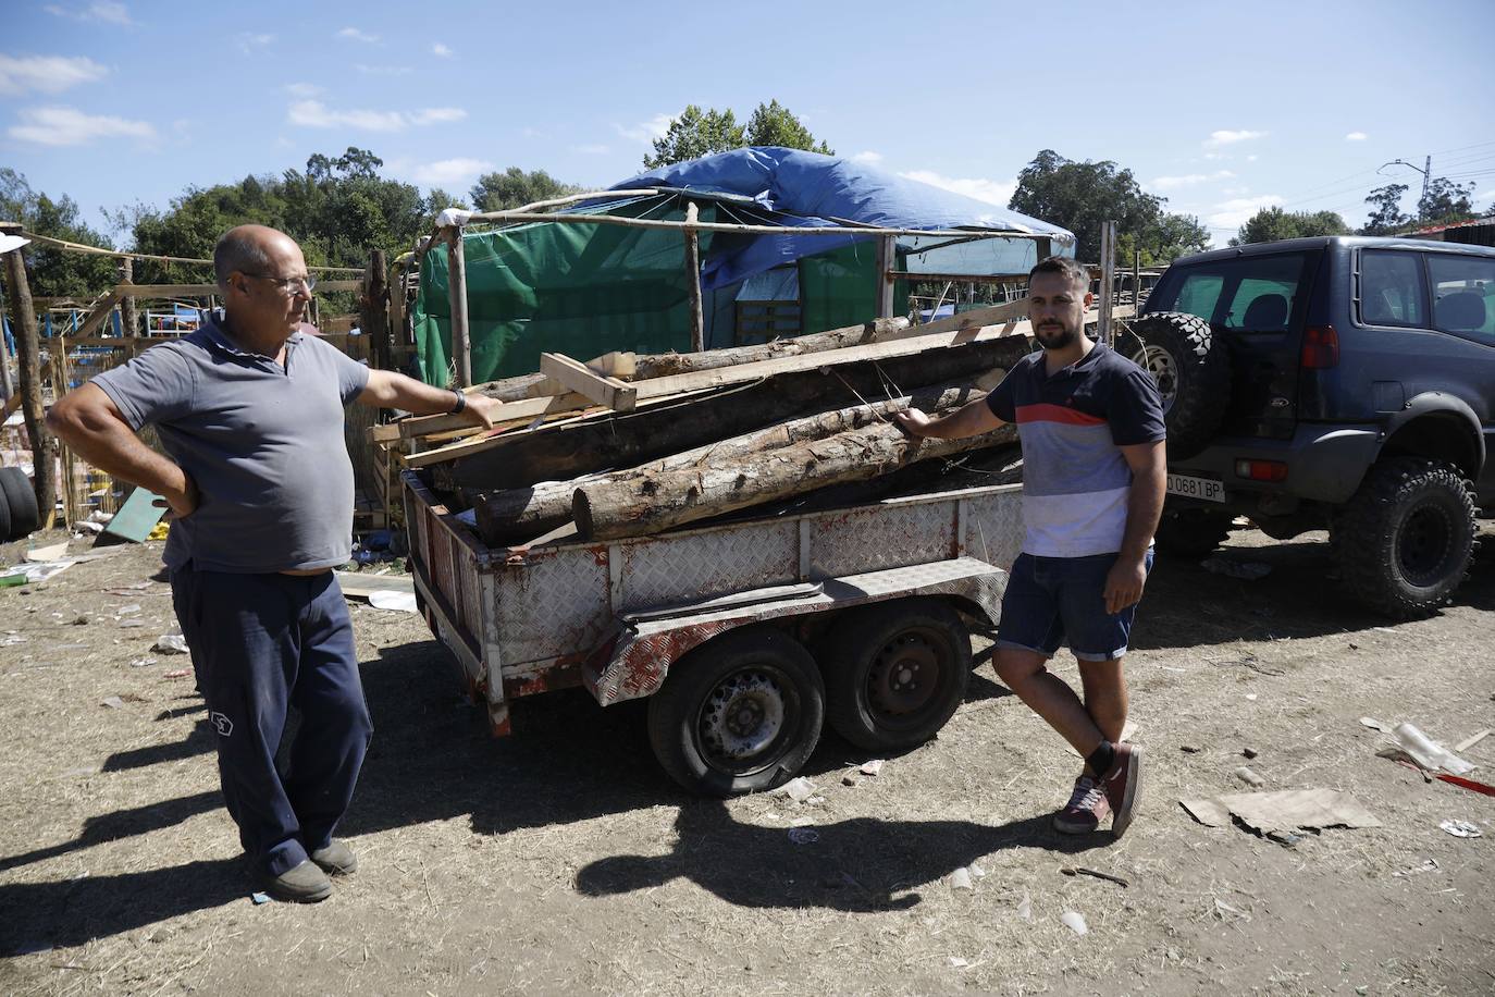
[[(112, 218), (132, 233), (136, 251), (152, 256), (211, 259), (227, 229), (259, 223), (296, 239), (311, 266), (362, 268), (371, 250), (399, 253), (413, 245), (431, 227), (431, 217), (451, 203), (446, 191), (422, 197), (416, 187), (380, 176), (383, 164), (359, 148), (336, 158), (317, 154), (306, 160), (305, 172), (188, 187), (166, 211), (136, 206)], [(206, 268), (142, 263), (135, 280), (144, 284), (208, 275)]]

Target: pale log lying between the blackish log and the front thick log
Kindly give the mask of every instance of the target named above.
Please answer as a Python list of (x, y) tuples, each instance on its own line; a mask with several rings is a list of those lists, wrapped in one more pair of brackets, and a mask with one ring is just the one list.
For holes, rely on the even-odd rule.
[[(752, 454), (765, 450), (824, 439), (875, 422), (888, 422), (894, 413), (909, 405), (916, 405), (927, 413), (942, 413), (957, 408), (981, 393), (982, 390), (972, 384), (921, 389), (913, 393), (912, 401), (909, 398), (898, 398), (875, 405), (854, 405), (836, 411), (816, 413), (770, 426), (768, 429), (743, 433), (730, 439), (712, 441), (626, 471), (591, 475), (589, 480), (623, 481), (683, 468), (698, 468), (707, 463), (710, 466), (725, 466), (733, 462), (750, 459)], [(505, 489), (502, 492), (478, 495), (477, 501), (472, 502), (478, 534), (484, 543), (501, 546), (504, 543), (531, 540), (562, 526), (571, 520), (571, 496), (582, 484), (582, 480), (574, 478), (570, 481), (538, 481), (526, 489)]]

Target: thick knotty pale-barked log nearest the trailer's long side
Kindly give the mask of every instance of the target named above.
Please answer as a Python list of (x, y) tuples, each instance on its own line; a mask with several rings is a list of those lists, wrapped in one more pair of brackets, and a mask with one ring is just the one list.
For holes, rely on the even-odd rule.
[(896, 423), (873, 423), (768, 450), (737, 465), (582, 484), (573, 496), (571, 514), (583, 541), (646, 537), (830, 484), (866, 481), (915, 460), (984, 450), (1015, 438), (1017, 427), (1006, 425), (967, 439), (915, 439)]

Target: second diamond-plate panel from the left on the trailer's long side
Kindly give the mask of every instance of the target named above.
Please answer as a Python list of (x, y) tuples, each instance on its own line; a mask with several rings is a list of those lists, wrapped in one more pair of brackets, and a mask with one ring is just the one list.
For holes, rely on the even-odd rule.
[(728, 592), (798, 580), (798, 526), (794, 520), (734, 523), (680, 537), (619, 546), (623, 558), (614, 610), (632, 613), (694, 602)]

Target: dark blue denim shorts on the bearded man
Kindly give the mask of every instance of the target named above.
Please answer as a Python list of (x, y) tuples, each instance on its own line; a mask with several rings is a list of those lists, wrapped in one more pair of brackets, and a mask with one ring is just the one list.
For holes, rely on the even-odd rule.
[[(997, 647), (1033, 650), (1052, 658), (1069, 644), (1079, 661), (1115, 661), (1126, 655), (1136, 605), (1106, 613), (1106, 574), (1120, 555), (1035, 558), (1018, 555), (1002, 596)], [(1153, 552), (1147, 552), (1153, 570)]]

